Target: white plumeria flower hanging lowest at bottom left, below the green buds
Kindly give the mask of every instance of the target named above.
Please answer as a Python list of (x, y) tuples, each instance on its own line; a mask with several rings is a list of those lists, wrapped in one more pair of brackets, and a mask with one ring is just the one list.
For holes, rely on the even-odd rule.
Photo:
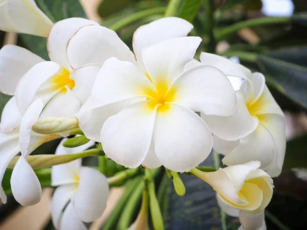
[[(78, 153), (94, 145), (91, 141), (76, 148), (59, 144), (56, 155)], [(58, 186), (52, 198), (51, 216), (56, 229), (86, 230), (84, 223), (98, 219), (106, 206), (109, 187), (99, 171), (81, 166), (81, 159), (52, 167), (52, 186)]]

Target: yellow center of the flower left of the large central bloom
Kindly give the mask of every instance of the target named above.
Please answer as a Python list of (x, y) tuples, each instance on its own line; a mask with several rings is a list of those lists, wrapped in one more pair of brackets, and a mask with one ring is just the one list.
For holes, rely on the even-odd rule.
[(73, 89), (75, 86), (75, 80), (70, 78), (70, 72), (66, 68), (60, 68), (58, 73), (52, 76), (50, 80), (53, 84), (52, 89), (55, 91), (62, 91), (63, 93), (66, 93), (67, 91), (65, 86), (69, 89)]

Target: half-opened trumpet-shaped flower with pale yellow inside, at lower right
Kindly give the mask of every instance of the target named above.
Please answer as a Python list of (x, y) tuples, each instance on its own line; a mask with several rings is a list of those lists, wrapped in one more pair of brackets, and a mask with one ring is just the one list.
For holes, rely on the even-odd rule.
[(224, 203), (248, 213), (259, 213), (273, 195), (273, 180), (259, 167), (260, 162), (254, 161), (220, 168), (215, 172), (192, 169), (191, 173), (212, 186)]

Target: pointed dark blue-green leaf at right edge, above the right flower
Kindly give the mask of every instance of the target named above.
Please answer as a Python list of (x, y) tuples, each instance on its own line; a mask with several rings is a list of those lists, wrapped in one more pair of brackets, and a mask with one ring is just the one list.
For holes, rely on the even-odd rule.
[(275, 85), (300, 106), (307, 108), (307, 67), (259, 55), (257, 62), (268, 83)]

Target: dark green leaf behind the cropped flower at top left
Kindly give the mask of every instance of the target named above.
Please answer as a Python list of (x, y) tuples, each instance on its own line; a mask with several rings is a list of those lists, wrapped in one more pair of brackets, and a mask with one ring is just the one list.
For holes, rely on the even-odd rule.
[[(77, 0), (38, 0), (37, 5), (54, 22), (69, 17), (86, 18), (86, 14)], [(28, 34), (19, 34), (19, 36), (27, 49), (43, 59), (49, 60), (47, 38)]]

